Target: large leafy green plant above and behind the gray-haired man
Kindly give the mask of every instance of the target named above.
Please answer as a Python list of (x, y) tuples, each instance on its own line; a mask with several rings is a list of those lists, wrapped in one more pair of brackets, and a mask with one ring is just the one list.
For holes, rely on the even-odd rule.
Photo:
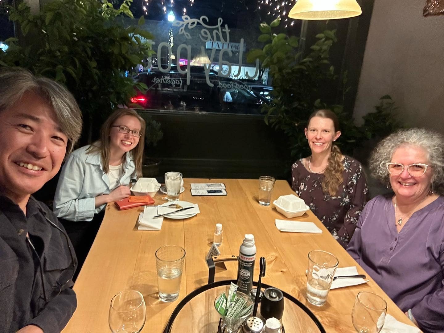
[[(0, 52), (1, 66), (28, 68), (66, 85), (77, 99), (85, 127), (83, 141), (91, 141), (92, 128), (119, 104), (126, 105), (135, 94), (135, 83), (123, 73), (131, 70), (152, 53), (143, 30), (143, 17), (136, 26), (124, 26), (119, 16), (133, 17), (132, 0), (124, 0), (115, 9), (107, 0), (52, 1), (31, 14), (22, 2), (8, 6), (9, 20), (20, 24), (20, 38), (6, 40), (7, 52)], [(85, 133), (84, 133), (85, 134)]]

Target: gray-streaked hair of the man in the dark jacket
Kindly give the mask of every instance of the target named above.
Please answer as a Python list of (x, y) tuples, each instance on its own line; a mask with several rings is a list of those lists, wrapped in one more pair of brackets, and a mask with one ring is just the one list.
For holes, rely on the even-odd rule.
[(74, 96), (56, 81), (36, 77), (24, 68), (0, 68), (0, 112), (16, 103), (26, 91), (34, 91), (48, 101), (68, 137), (66, 151), (69, 154), (82, 132), (82, 112)]

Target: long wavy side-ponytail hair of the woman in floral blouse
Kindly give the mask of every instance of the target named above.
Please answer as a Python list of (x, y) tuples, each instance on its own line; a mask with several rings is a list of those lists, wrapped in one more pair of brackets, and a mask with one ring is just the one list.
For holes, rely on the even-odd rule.
[[(313, 117), (321, 117), (326, 119), (331, 119), (333, 121), (334, 131), (335, 133), (339, 131), (339, 121), (337, 116), (333, 111), (330, 110), (317, 110), (314, 111), (307, 123), (310, 123), (310, 120)], [(337, 145), (332, 144), (332, 149), (330, 151), (329, 159), (328, 159), (327, 168), (324, 171), (324, 179), (322, 180), (321, 186), (322, 191), (325, 194), (330, 194), (332, 197), (337, 195), (339, 190), (339, 185), (344, 181), (344, 177), (342, 176), (342, 172), (344, 171), (344, 166), (342, 165), (342, 153)]]

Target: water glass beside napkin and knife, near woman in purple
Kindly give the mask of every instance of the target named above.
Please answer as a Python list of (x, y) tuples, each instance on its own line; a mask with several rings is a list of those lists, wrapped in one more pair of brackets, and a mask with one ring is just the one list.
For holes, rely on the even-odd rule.
[(338, 264), (329, 252), (314, 250), (308, 254), (307, 301), (317, 306), (325, 304)]

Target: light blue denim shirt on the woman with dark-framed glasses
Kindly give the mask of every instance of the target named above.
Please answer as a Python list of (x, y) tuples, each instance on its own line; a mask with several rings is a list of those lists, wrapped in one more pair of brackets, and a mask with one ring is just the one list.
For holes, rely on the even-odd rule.
[(106, 204), (95, 208), (95, 197), (109, 194), (120, 185), (129, 185), (136, 179), (135, 164), (131, 153), (126, 154), (123, 174), (114, 188), (110, 188), (108, 175), (102, 167), (100, 153), (89, 153), (90, 146), (81, 147), (68, 155), (60, 174), (54, 196), (53, 210), (59, 218), (69, 221), (91, 221)]

